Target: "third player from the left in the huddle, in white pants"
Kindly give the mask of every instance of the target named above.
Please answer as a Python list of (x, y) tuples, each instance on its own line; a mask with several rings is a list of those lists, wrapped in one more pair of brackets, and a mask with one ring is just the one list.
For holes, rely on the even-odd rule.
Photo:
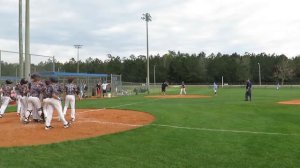
[(35, 122), (42, 122), (44, 120), (40, 100), (44, 84), (40, 81), (40, 76), (38, 74), (32, 74), (31, 80), (31, 83), (29, 83), (28, 107), (24, 120), (24, 123), (26, 124), (29, 122), (30, 113), (32, 113), (32, 118)]

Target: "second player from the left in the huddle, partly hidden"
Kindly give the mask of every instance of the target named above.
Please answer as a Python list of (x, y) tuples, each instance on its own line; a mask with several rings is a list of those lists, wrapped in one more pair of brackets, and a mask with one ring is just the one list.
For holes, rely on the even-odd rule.
[(23, 122), (25, 122), (25, 114), (27, 111), (27, 94), (29, 91), (27, 83), (28, 81), (23, 78), (21, 79), (20, 84), (17, 86), (18, 92), (20, 94), (20, 120)]

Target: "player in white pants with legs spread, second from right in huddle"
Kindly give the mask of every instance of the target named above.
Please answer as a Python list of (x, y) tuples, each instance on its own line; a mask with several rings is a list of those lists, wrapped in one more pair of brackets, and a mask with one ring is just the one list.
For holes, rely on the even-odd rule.
[(68, 128), (70, 124), (66, 121), (61, 106), (61, 99), (58, 97), (58, 80), (54, 77), (50, 78), (50, 81), (46, 81), (46, 89), (44, 91), (43, 108), (46, 115), (45, 130), (52, 128), (51, 121), (53, 116), (53, 109), (58, 112), (58, 116), (62, 121), (64, 128)]

